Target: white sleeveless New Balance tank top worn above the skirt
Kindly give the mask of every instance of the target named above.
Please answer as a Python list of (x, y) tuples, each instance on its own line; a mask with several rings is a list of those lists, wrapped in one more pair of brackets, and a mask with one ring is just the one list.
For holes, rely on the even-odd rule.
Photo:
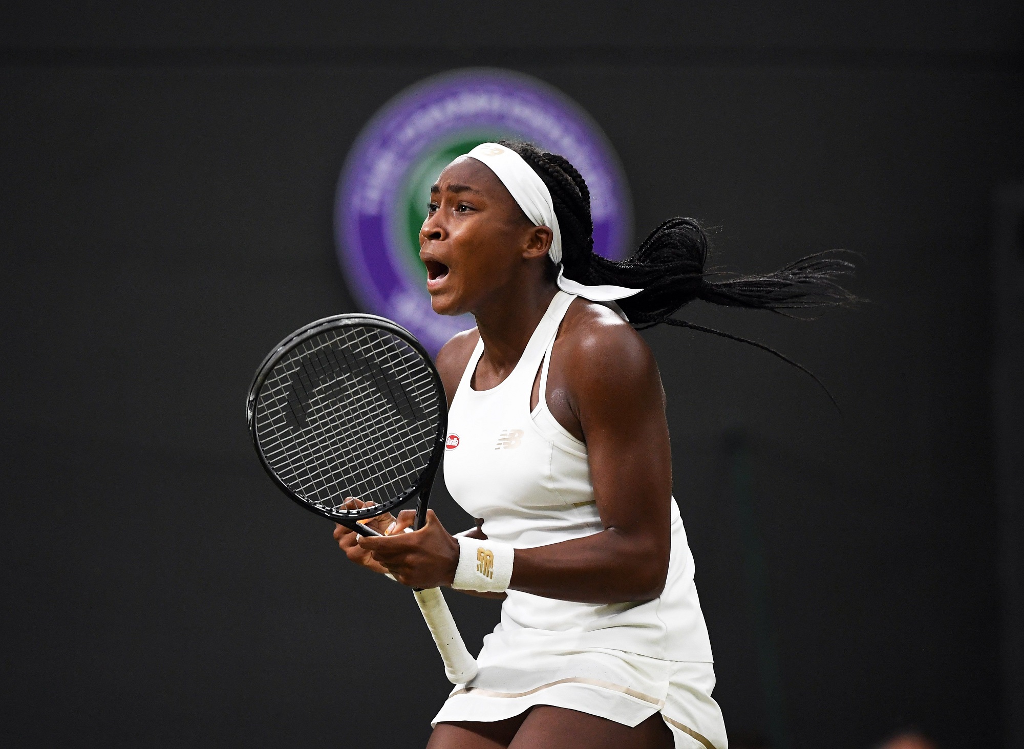
[[(483, 520), (488, 538), (531, 548), (604, 529), (590, 481), (587, 446), (547, 404), (548, 366), (558, 327), (574, 296), (558, 292), (512, 372), (490, 390), (470, 387), (476, 344), (449, 412), (444, 483), (455, 500)], [(543, 366), (542, 366), (543, 364)], [(529, 401), (541, 367), (541, 397)], [(672, 550), (660, 597), (644, 603), (581, 604), (509, 590), (487, 648), (608, 648), (673, 661), (711, 662), (693, 557), (672, 496)]]

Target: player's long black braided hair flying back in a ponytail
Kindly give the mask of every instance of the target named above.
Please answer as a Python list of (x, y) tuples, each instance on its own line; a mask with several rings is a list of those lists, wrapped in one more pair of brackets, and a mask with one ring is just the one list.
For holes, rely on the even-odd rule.
[[(588, 285), (641, 288), (640, 294), (617, 302), (639, 329), (665, 323), (750, 344), (802, 369), (824, 388), (813, 372), (768, 346), (673, 315), (695, 299), (782, 314), (785, 310), (810, 307), (850, 306), (858, 300), (838, 279), (853, 272), (852, 263), (824, 252), (801, 258), (773, 273), (717, 273), (711, 277), (705, 270), (708, 237), (696, 219), (681, 217), (671, 218), (655, 228), (626, 260), (608, 260), (594, 253), (590, 189), (575, 167), (565, 157), (531, 143), (500, 142), (522, 157), (551, 192), (562, 235), (562, 264), (567, 278)], [(831, 398), (831, 393), (828, 397)]]

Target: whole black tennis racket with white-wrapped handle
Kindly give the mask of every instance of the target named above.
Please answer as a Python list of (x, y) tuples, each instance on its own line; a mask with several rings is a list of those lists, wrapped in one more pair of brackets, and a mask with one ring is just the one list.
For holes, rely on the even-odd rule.
[[(437, 369), (409, 331), (365, 314), (300, 327), (256, 370), (246, 418), (263, 468), (301, 506), (379, 536), (359, 521), (416, 496), (413, 528), (423, 526), (447, 404)], [(347, 497), (367, 506), (345, 508)], [(414, 592), (449, 679), (465, 684), (476, 660), (444, 597), (436, 587)]]

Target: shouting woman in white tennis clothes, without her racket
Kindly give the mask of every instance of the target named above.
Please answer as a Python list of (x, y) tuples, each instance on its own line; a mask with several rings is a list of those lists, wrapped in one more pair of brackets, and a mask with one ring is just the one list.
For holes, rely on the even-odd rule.
[[(504, 599), (479, 673), (434, 718), (429, 749), (726, 749), (693, 559), (672, 496), (665, 393), (632, 324), (702, 299), (763, 309), (837, 304), (847, 264), (805, 259), (713, 280), (692, 219), (624, 262), (592, 252), (590, 193), (562, 157), (484, 143), (431, 188), (420, 233), (439, 314), (477, 326), (437, 356), (444, 480), (476, 518), (433, 512), (338, 526), (350, 560), (412, 587)], [(357, 500), (352, 500), (357, 501)]]

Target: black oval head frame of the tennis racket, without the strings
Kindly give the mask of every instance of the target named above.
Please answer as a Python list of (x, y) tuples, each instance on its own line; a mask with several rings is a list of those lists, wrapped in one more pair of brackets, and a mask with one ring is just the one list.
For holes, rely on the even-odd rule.
[[(256, 400), (259, 397), (260, 389), (263, 387), (263, 384), (266, 382), (266, 379), (273, 369), (274, 365), (293, 349), (301, 345), (303, 342), (329, 331), (355, 326), (377, 327), (381, 331), (389, 333), (392, 336), (401, 339), (410, 346), (410, 348), (414, 349), (418, 354), (420, 354), (420, 356), (423, 357), (423, 360), (426, 362), (427, 368), (430, 371), (430, 376), (437, 393), (439, 401), (438, 412), (440, 417), (437, 421), (437, 432), (434, 435), (434, 444), (431, 448), (432, 452), (430, 460), (427, 462), (426, 468), (424, 468), (420, 473), (416, 483), (409, 490), (403, 492), (400, 497), (392, 501), (390, 504), (375, 504), (373, 508), (369, 509), (368, 512), (364, 512), (365, 509), (359, 509), (345, 511), (345, 515), (336, 515), (327, 512), (322, 508), (317, 508), (300, 497), (296, 492), (292, 491), (292, 489), (289, 488), (288, 485), (285, 484), (285, 482), (283, 482), (278, 477), (276, 473), (274, 473), (274, 471), (270, 468), (266, 456), (263, 454), (263, 448), (260, 446), (259, 437), (256, 433)], [(253, 377), (252, 383), (249, 386), (249, 394), (246, 397), (246, 423), (249, 425), (249, 435), (252, 438), (253, 446), (256, 448), (256, 454), (259, 456), (259, 461), (263, 467), (263, 470), (273, 480), (273, 483), (278, 485), (279, 489), (281, 489), (294, 502), (305, 510), (308, 510), (310, 513), (327, 518), (328, 520), (333, 520), (335, 523), (340, 523), (360, 535), (379, 536), (382, 534), (373, 528), (368, 528), (366, 525), (357, 521), (369, 520), (384, 515), (384, 513), (388, 513), (391, 510), (406, 503), (415, 495), (418, 497), (418, 502), (416, 508), (416, 522), (413, 525), (414, 530), (419, 530), (423, 527), (423, 523), (426, 522), (427, 505), (430, 501), (430, 489), (433, 485), (434, 478), (437, 475), (437, 469), (440, 466), (441, 457), (444, 454), (444, 440), (447, 436), (447, 400), (444, 394), (444, 385), (441, 382), (440, 375), (437, 372), (437, 367), (434, 365), (434, 362), (427, 353), (427, 350), (423, 348), (423, 345), (416, 340), (413, 334), (396, 322), (393, 322), (386, 317), (379, 317), (377, 315), (347, 313), (332, 315), (331, 317), (324, 317), (322, 319), (314, 320), (313, 322), (303, 325), (298, 331), (289, 335), (287, 338), (282, 340), (281, 343), (273, 347), (270, 353), (263, 358), (263, 361), (256, 369), (256, 375)]]

